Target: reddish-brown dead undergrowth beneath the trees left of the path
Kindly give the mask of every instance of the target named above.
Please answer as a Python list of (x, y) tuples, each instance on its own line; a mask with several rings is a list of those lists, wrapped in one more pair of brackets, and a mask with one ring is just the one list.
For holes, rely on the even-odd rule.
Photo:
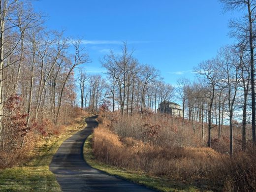
[[(49, 140), (50, 137), (58, 137), (64, 133), (68, 125), (77, 123), (76, 121), (85, 116), (87, 116), (87, 112), (79, 108), (70, 109), (68, 118), (64, 120), (64, 116), (60, 116), (62, 121), (58, 125), (54, 125), (49, 119), (34, 122), (26, 137), (22, 136), (22, 121), (13, 118), (9, 127), (8, 124), (5, 124), (5, 140), (0, 150), (0, 168), (20, 165), (30, 160), (34, 156), (34, 151), (40, 147), (43, 141)], [(17, 133), (20, 133), (19, 136)], [(22, 145), (23, 138), (24, 144)]]

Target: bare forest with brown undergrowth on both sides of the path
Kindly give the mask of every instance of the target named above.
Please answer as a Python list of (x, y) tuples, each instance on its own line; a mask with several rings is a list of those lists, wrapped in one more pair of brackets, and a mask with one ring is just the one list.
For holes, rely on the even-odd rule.
[[(104, 75), (88, 73), (82, 39), (47, 29), (29, 0), (0, 0), (0, 168), (30, 160), (38, 141), (87, 111), (99, 114), (100, 162), (203, 190), (256, 191), (256, 2), (220, 3), (245, 13), (229, 23), (235, 42), (171, 85), (126, 41), (99, 59)], [(164, 101), (182, 115), (160, 113)]]

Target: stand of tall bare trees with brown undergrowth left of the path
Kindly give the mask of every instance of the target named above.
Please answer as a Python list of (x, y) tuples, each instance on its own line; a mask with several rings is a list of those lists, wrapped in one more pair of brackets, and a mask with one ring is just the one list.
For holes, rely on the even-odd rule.
[(0, 168), (27, 159), (80, 113), (74, 68), (88, 54), (41, 17), (30, 0), (0, 0)]

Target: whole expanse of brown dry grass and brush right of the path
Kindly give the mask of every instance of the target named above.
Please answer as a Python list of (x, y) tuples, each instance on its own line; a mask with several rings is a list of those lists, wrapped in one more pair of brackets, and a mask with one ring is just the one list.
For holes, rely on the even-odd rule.
[[(242, 153), (236, 141), (235, 155), (230, 157), (226, 153), (227, 128), (221, 140), (216, 139), (218, 131), (213, 131), (215, 149), (212, 149), (206, 147), (199, 124), (194, 134), (188, 124), (182, 128), (178, 118), (152, 116), (131, 120), (109, 114), (100, 121), (93, 139), (97, 160), (203, 185), (214, 191), (256, 191), (255, 150)], [(239, 134), (238, 128), (235, 134)]]

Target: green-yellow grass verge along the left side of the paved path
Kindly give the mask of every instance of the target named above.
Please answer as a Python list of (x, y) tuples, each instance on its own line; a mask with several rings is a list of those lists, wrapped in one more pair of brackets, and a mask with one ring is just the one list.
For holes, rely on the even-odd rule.
[(23, 166), (0, 170), (1, 192), (61, 192), (54, 174), (49, 170), (53, 155), (69, 136), (86, 126), (85, 118), (65, 129), (58, 137), (50, 137), (38, 144), (34, 158)]

